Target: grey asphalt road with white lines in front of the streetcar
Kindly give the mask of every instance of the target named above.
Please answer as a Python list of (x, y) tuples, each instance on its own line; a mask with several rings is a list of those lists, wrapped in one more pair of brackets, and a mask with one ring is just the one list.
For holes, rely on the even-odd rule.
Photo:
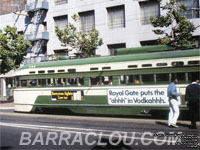
[[(0, 112), (1, 149), (198, 149), (189, 121)], [(199, 141), (198, 141), (199, 136)]]

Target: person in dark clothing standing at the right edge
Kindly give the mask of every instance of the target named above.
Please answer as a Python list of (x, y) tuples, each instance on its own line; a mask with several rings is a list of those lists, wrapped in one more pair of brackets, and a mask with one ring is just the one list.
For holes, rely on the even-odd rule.
[(190, 110), (191, 128), (197, 129), (196, 121), (199, 118), (200, 107), (200, 85), (199, 79), (193, 80), (193, 82), (187, 86), (185, 93), (186, 106)]

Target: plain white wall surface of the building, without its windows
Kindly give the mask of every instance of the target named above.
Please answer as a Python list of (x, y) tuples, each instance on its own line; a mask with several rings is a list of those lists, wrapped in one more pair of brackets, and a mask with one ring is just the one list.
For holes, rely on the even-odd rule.
[[(28, 3), (34, 0), (27, 0)], [(38, 0), (41, 1), (41, 0)], [(47, 43), (47, 55), (54, 54), (54, 50), (65, 49), (60, 46), (60, 42), (55, 34), (55, 24), (53, 17), (68, 15), (68, 22), (72, 22), (71, 16), (80, 12), (95, 11), (95, 28), (99, 30), (100, 37), (104, 44), (97, 49), (97, 54), (109, 55), (107, 45), (125, 43), (126, 47), (141, 46), (140, 41), (155, 40), (158, 37), (152, 32), (151, 25), (142, 25), (140, 23), (140, 6), (138, 1), (144, 0), (68, 0), (68, 3), (55, 5), (54, 0), (48, 0), (49, 10), (45, 18), (47, 23), (47, 32), (49, 32), (49, 41)], [(164, 0), (165, 3), (167, 0)], [(107, 7), (125, 6), (125, 28), (108, 28)], [(161, 11), (161, 15), (165, 12)], [(26, 20), (26, 21), (25, 21)], [(195, 26), (200, 25), (200, 18), (191, 19)], [(26, 25), (27, 17), (22, 15), (7, 14), (0, 16), (0, 28), (6, 25), (14, 25), (18, 31), (30, 33), (31, 25)], [(44, 27), (40, 25), (40, 31)], [(200, 28), (194, 32), (195, 36), (200, 35)]]

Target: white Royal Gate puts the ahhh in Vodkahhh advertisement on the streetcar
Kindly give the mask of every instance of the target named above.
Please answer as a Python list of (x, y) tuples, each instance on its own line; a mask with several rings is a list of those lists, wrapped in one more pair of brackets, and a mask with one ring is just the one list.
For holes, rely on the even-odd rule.
[(109, 89), (108, 104), (168, 106), (167, 88)]

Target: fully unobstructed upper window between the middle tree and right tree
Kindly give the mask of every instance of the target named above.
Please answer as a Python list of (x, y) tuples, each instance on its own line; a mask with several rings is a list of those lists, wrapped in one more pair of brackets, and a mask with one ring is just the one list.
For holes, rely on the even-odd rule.
[(124, 6), (107, 8), (108, 12), (108, 28), (124, 28), (125, 27), (125, 9)]

